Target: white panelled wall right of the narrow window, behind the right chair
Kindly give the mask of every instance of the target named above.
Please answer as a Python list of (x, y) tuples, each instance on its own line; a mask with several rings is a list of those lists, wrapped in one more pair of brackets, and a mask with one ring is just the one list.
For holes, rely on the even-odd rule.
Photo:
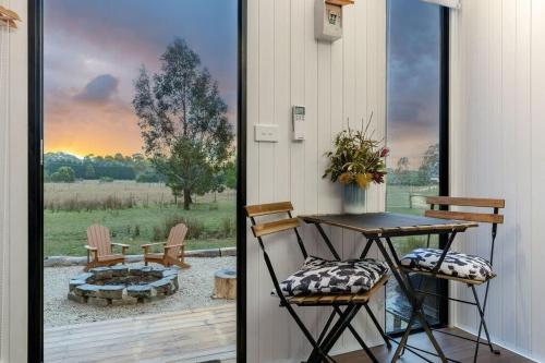
[[(451, 194), (506, 198), (489, 328), (500, 344), (545, 361), (545, 1), (464, 0), (451, 25)], [(486, 256), (488, 233), (458, 249)], [(451, 311), (475, 330), (474, 308)]]

